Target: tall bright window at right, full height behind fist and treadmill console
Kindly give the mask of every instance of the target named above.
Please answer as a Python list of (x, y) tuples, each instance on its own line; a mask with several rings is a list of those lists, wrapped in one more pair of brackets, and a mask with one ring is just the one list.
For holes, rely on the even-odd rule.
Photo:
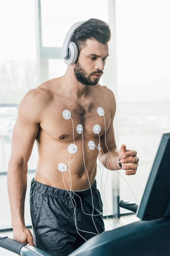
[[(136, 150), (140, 160), (136, 175), (119, 173), (139, 204), (161, 136), (170, 131), (169, 9), (168, 0), (116, 1), (119, 148)], [(120, 199), (136, 201), (121, 177)]]

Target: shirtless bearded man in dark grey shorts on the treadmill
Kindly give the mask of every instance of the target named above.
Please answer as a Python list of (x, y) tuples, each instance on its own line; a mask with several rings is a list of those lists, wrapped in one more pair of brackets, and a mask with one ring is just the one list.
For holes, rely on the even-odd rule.
[[(125, 172), (126, 175), (136, 174), (138, 166), (139, 158), (136, 157), (136, 151), (127, 150), (125, 145), (122, 145), (120, 150), (116, 148), (113, 131), (115, 97), (110, 89), (99, 84), (108, 56), (108, 41), (111, 37), (110, 29), (106, 24), (102, 20), (90, 19), (75, 30), (71, 41), (79, 35), (83, 43), (79, 44), (76, 41), (78, 39), (74, 41), (79, 49), (76, 63), (68, 65), (63, 76), (29, 90), (20, 102), (17, 121), (14, 125), (11, 157), (8, 164), (8, 195), (14, 239), (39, 247), (56, 256), (67, 256), (92, 236), (105, 230), (102, 220), (102, 201), (99, 190), (96, 189), (95, 180), (96, 159), (99, 157), (99, 152), (97, 148), (90, 150), (88, 142), (93, 140), (95, 145), (98, 145), (100, 136), (100, 147), (104, 151), (109, 170), (115, 170), (114, 166), (116, 170), (121, 169), (119, 158), (122, 168), (126, 167), (128, 171)], [(86, 31), (85, 35), (83, 32), (81, 35), (83, 29)], [(98, 107), (102, 107), (105, 111), (106, 127), (103, 116), (97, 114)], [(72, 120), (63, 118), (64, 110), (71, 112), (74, 138)], [(76, 130), (78, 124), (83, 126), (85, 166), (82, 134), (78, 134)], [(93, 132), (96, 124), (101, 127), (99, 134)], [(105, 145), (105, 133), (113, 162)], [(32, 236), (31, 231), (25, 226), (24, 202), (28, 160), (35, 140), (39, 158), (30, 190)], [(77, 233), (73, 217), (74, 207), (68, 193), (70, 192), (69, 172), (68, 169), (60, 172), (57, 168), (59, 163), (69, 165), (68, 145), (74, 143), (74, 140), (78, 150), (70, 165), (71, 189), (80, 196), (83, 210), (89, 215), (82, 212), (79, 198), (73, 192), (71, 195), (77, 204), (77, 227), (79, 230), (91, 233), (82, 231)], [(70, 162), (74, 156), (75, 154), (71, 154)], [(107, 168), (102, 157), (100, 161)], [(93, 214), (96, 215), (93, 219), (96, 227), (90, 215), (93, 209), (90, 188), (93, 193)]]

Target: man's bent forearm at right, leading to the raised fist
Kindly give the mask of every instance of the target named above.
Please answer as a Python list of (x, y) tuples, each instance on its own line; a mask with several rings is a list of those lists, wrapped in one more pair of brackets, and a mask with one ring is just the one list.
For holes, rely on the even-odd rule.
[[(111, 152), (111, 154), (109, 153), (109, 151)], [(98, 158), (100, 157), (100, 160), (99, 160), (100, 163), (102, 163), (102, 165), (105, 166), (106, 169), (113, 170), (113, 171), (115, 171), (115, 169), (120, 170), (121, 168), (119, 166), (119, 149), (111, 148), (111, 150), (109, 151), (104, 154), (105, 160), (103, 159), (102, 154), (100, 153), (99, 153), (100, 155), (98, 154)], [(113, 158), (113, 161), (112, 161), (112, 158)], [(107, 163), (107, 165), (105, 162)]]

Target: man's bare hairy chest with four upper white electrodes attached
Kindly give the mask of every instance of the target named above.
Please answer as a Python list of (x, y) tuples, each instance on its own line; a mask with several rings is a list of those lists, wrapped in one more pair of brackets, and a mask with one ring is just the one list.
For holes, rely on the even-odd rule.
[[(104, 116), (97, 112), (99, 107), (105, 111)], [(69, 113), (69, 119), (65, 119), (65, 113)], [(84, 104), (51, 104), (45, 111), (40, 126), (54, 140), (72, 142), (73, 134), (74, 140), (82, 138), (82, 134), (78, 132), (79, 127), (83, 128), (84, 138), (99, 138), (108, 130), (110, 121), (108, 102), (93, 100)], [(99, 133), (96, 128), (101, 129)]]

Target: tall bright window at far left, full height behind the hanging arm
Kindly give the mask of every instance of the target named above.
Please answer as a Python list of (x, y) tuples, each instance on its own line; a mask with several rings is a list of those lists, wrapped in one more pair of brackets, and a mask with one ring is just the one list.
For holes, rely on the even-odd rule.
[[(0, 22), (0, 229), (11, 227), (11, 211), (7, 192), (8, 161), (11, 137), (18, 105), (26, 92), (37, 86), (36, 33), (34, 1), (7, 0), (1, 3)], [(36, 143), (28, 169), (36, 168)], [(31, 223), (29, 184), (26, 195), (26, 224)]]

